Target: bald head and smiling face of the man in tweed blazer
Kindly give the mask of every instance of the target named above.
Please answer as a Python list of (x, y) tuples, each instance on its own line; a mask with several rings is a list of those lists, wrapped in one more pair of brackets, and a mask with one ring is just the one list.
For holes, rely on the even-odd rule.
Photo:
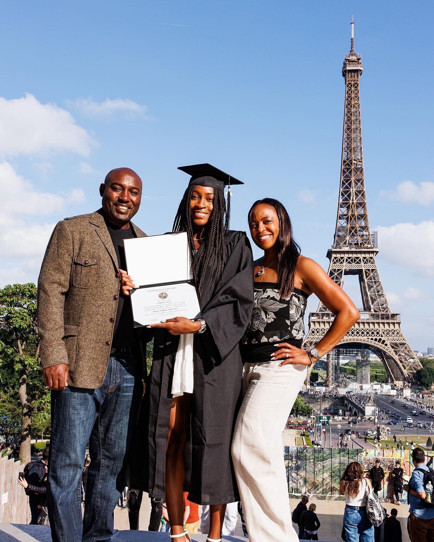
[(120, 228), (128, 227), (140, 207), (142, 180), (133, 170), (119, 167), (107, 173), (99, 193), (106, 218)]

